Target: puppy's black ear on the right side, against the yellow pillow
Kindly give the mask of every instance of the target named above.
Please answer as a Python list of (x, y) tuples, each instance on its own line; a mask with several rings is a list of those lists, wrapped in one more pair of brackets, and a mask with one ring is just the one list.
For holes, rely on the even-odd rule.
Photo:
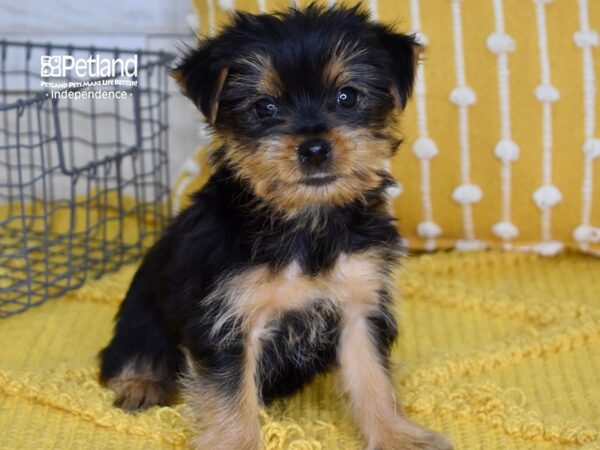
[(378, 31), (381, 43), (391, 57), (390, 91), (394, 104), (397, 108), (404, 109), (412, 94), (417, 64), (423, 47), (417, 43), (413, 35), (395, 33), (388, 27), (381, 27)]

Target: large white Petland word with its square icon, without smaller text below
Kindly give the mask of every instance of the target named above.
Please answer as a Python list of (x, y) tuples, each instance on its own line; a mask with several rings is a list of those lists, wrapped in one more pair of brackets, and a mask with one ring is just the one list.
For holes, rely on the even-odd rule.
[(78, 78), (137, 77), (137, 55), (133, 58), (75, 58), (71, 55), (41, 56), (42, 77)]

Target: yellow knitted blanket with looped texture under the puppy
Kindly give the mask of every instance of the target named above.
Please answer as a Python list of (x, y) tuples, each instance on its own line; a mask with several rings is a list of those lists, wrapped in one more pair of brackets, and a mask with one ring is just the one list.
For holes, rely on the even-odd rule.
[[(134, 267), (0, 321), (0, 448), (181, 448), (184, 405), (111, 406), (95, 355)], [(458, 449), (600, 448), (600, 259), (442, 253), (399, 275), (395, 377)], [(268, 450), (360, 449), (335, 378), (263, 413)]]

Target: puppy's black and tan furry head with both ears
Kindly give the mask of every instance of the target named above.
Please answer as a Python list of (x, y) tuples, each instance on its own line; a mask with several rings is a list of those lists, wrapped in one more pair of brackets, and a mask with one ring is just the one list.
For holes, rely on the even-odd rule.
[(176, 68), (254, 193), (294, 215), (378, 188), (419, 47), (359, 8), (238, 14)]

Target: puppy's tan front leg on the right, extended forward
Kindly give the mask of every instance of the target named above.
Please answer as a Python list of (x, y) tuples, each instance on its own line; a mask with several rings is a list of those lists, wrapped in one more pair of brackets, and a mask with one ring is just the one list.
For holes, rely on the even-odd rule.
[(442, 435), (414, 424), (396, 403), (387, 369), (387, 355), (377, 345), (379, 332), (364, 304), (344, 309), (339, 346), (343, 387), (368, 450), (448, 450)]

